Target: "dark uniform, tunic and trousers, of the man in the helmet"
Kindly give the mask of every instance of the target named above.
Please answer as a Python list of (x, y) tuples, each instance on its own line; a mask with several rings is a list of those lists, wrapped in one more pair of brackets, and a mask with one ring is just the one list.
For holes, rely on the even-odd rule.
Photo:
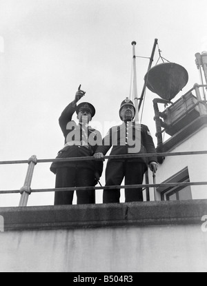
[[(132, 139), (135, 140), (135, 130), (137, 128), (139, 130), (141, 128), (138, 138), (140, 140), (140, 150), (138, 153), (156, 153), (148, 127), (143, 124), (135, 125), (135, 123), (131, 122), (110, 128), (108, 134), (103, 139), (102, 146), (97, 148), (96, 153), (101, 152), (103, 155), (106, 155), (113, 145), (110, 155), (133, 154), (132, 149), (131, 152), (129, 150), (135, 146), (132, 146), (131, 143), (129, 145), (129, 136), (132, 134)], [(117, 138), (117, 144), (112, 142), (115, 138)], [(148, 163), (152, 161), (157, 162), (157, 156), (135, 159), (109, 159), (106, 166), (106, 186), (121, 185), (124, 177), (125, 185), (142, 184)], [(125, 196), (126, 202), (143, 201), (142, 189), (126, 189)], [(119, 203), (119, 198), (119, 189), (103, 191), (103, 203)]]

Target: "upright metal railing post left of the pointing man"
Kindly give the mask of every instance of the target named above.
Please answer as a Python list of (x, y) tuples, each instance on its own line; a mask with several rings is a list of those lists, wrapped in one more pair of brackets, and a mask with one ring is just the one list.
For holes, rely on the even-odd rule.
[(23, 187), (20, 189), (20, 202), (19, 207), (26, 207), (28, 204), (28, 198), (31, 194), (31, 183), (32, 183), (32, 176), (34, 172), (34, 166), (37, 164), (37, 156), (33, 155), (28, 159), (28, 171), (26, 174), (26, 179), (24, 181)]

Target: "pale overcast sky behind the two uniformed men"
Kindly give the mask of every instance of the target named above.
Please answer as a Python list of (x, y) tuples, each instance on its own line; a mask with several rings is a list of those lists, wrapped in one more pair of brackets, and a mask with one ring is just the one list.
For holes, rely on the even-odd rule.
[[(206, 0), (0, 0), (0, 161), (55, 158), (63, 147), (58, 119), (79, 84), (103, 136), (119, 123), (132, 41), (137, 56), (150, 57), (157, 38), (162, 56), (186, 68), (188, 84), (175, 100), (200, 83), (195, 53), (207, 50), (206, 10)], [(158, 58), (156, 50), (153, 64)], [(136, 61), (140, 95), (149, 61)], [(142, 121), (155, 145), (156, 97), (147, 90)], [(19, 190), (27, 167), (0, 165), (0, 190)], [(49, 167), (35, 166), (33, 189), (55, 187)], [(28, 205), (52, 205), (53, 197), (32, 194)], [(19, 194), (0, 195), (0, 206), (18, 203)]]

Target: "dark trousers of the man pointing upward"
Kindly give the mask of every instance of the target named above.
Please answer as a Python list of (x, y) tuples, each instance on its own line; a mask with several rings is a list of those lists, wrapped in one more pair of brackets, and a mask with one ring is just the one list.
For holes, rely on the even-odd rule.
[[(92, 187), (94, 171), (86, 167), (57, 168), (55, 187)], [(72, 205), (74, 191), (55, 192), (55, 205)], [(77, 204), (95, 203), (95, 190), (77, 191)]]

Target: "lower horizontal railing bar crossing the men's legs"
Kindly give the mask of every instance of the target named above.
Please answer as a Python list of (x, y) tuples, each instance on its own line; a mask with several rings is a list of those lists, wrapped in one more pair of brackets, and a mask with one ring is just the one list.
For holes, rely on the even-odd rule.
[[(184, 182), (184, 183), (161, 183), (161, 184), (139, 184), (139, 185), (110, 185), (105, 187), (59, 187), (52, 189), (34, 189), (32, 193), (37, 192), (65, 192), (65, 191), (88, 191), (88, 190), (114, 190), (114, 189), (134, 189), (145, 187), (186, 187), (189, 185), (207, 185), (207, 182)], [(19, 190), (0, 191), (0, 194), (17, 194)]]

